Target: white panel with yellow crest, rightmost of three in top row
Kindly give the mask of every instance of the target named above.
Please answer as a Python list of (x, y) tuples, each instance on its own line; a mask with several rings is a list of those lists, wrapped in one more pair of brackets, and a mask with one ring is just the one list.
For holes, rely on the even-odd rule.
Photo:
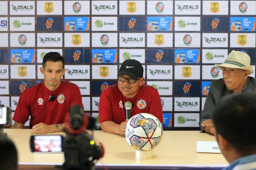
[(203, 15), (228, 15), (228, 0), (203, 0)]

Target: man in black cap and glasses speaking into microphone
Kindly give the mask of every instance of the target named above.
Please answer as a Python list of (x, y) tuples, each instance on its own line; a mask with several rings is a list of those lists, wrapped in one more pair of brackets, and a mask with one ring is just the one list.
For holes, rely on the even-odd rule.
[(99, 122), (103, 131), (124, 135), (126, 102), (131, 102), (131, 116), (150, 113), (163, 122), (163, 111), (158, 91), (144, 84), (143, 67), (140, 62), (125, 60), (117, 75), (118, 83), (102, 91), (99, 104)]

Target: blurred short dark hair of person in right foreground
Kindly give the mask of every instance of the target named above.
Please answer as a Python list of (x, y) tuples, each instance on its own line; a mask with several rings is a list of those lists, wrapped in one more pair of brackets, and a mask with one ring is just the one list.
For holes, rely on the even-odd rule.
[(216, 135), (224, 137), (241, 155), (256, 151), (256, 93), (224, 96), (212, 114)]

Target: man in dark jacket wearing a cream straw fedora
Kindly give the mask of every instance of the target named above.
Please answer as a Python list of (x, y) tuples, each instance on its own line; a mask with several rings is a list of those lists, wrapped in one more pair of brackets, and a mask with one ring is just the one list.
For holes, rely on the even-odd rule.
[(212, 111), (220, 99), (232, 93), (256, 91), (256, 79), (249, 77), (252, 66), (246, 53), (233, 50), (223, 64), (215, 65), (222, 70), (223, 78), (211, 82), (199, 122), (201, 131), (212, 135), (216, 134)]

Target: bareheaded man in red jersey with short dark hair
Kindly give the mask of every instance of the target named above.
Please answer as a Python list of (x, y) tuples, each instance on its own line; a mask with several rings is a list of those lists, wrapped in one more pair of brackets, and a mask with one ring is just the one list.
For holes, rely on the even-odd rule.
[(61, 79), (66, 71), (64, 57), (57, 52), (47, 53), (40, 71), (44, 81), (22, 92), (10, 128), (22, 129), (30, 116), (29, 127), (34, 133), (60, 132), (70, 107), (78, 104), (84, 110), (79, 87)]

